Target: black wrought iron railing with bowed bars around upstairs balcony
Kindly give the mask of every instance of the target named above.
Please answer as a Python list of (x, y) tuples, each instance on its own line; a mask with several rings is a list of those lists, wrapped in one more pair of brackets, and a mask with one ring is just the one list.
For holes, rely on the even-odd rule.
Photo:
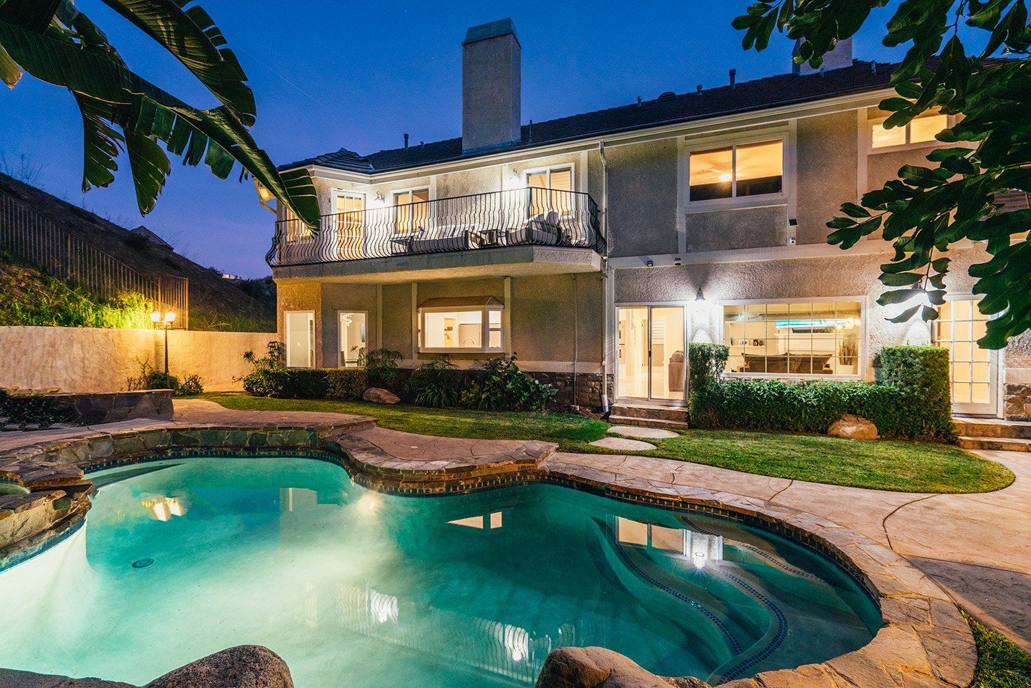
[(305, 265), (527, 244), (604, 255), (598, 205), (588, 194), (528, 188), (324, 215), (318, 231), (280, 220), (265, 259)]

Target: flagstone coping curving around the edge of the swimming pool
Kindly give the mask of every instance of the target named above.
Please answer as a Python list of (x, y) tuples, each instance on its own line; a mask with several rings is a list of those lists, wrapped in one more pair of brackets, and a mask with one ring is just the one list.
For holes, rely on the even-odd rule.
[[(493, 443), (479, 453), (476, 444), (465, 445), (451, 458), (440, 452), (419, 453), (429, 458), (395, 456), (365, 432), (373, 427), (375, 421), (371, 418), (340, 416), (338, 420), (309, 423), (167, 423), (111, 431), (84, 429), (81, 434), (0, 452), (0, 477), (11, 480), (13, 476), (16, 481), (19, 474), (61, 474), (67, 482), (71, 472), (88, 482), (89, 471), (160, 458), (288, 453), (336, 463), (356, 483), (393, 494), (463, 493), (540, 482), (663, 509), (721, 516), (761, 526), (830, 558), (864, 587), (878, 604), (884, 619), (884, 626), (870, 643), (855, 652), (819, 664), (764, 671), (722, 685), (965, 688), (973, 678), (976, 646), (949, 595), (903, 557), (855, 530), (763, 499), (568, 463), (556, 455), (557, 448), (550, 443)], [(87, 473), (85, 478), (82, 471)], [(42, 491), (46, 482), (38, 487)], [(77, 489), (79, 494), (89, 492)], [(30, 488), (30, 494), (33, 491)], [(60, 542), (81, 525), (85, 515), (86, 509), (70, 510), (51, 519), (43, 529), (0, 550), (0, 569)], [(10, 515), (0, 507), (0, 523), (5, 517)], [(578, 659), (573, 653), (564, 655), (561, 649), (556, 650), (545, 663), (544, 674), (548, 675), (548, 664), (565, 662), (563, 665), (567, 666), (575, 661)], [(626, 662), (636, 667), (629, 659)], [(634, 683), (620, 685), (648, 685), (640, 677), (652, 675), (636, 668), (639, 673), (633, 674)], [(620, 675), (619, 666), (606, 670), (609, 671), (606, 676)], [(657, 683), (651, 685), (669, 685), (660, 677), (654, 679)], [(703, 685), (697, 680), (680, 681), (678, 685)], [(550, 684), (538, 684), (538, 688), (550, 688)]]

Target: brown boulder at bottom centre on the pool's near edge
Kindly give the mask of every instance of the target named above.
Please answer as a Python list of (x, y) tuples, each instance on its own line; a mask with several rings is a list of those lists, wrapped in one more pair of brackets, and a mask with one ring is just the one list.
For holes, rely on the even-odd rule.
[(544, 660), (537, 688), (709, 688), (698, 679), (664, 679), (604, 648), (559, 648)]

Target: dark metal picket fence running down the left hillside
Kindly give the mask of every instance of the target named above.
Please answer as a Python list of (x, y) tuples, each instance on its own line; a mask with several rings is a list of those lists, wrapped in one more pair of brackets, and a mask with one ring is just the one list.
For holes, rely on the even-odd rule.
[(174, 313), (176, 327), (189, 325), (188, 279), (140, 272), (2, 192), (0, 247), (102, 299), (113, 299), (122, 292), (142, 294), (155, 310)]

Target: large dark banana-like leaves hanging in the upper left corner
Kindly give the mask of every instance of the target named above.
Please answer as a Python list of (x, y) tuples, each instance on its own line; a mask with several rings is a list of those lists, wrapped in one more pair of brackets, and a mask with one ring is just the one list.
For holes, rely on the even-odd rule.
[[(210, 15), (194, 0), (101, 0), (173, 55), (222, 103), (189, 105), (131, 71), (107, 37), (71, 0), (0, 0), (0, 79), (23, 72), (71, 92), (82, 118), (82, 191), (114, 181), (125, 153), (141, 215), (154, 209), (171, 171), (202, 161), (219, 178), (239, 169), (318, 228), (306, 170), (280, 173), (251, 135), (254, 93)], [(164, 144), (162, 148), (161, 144)]]

